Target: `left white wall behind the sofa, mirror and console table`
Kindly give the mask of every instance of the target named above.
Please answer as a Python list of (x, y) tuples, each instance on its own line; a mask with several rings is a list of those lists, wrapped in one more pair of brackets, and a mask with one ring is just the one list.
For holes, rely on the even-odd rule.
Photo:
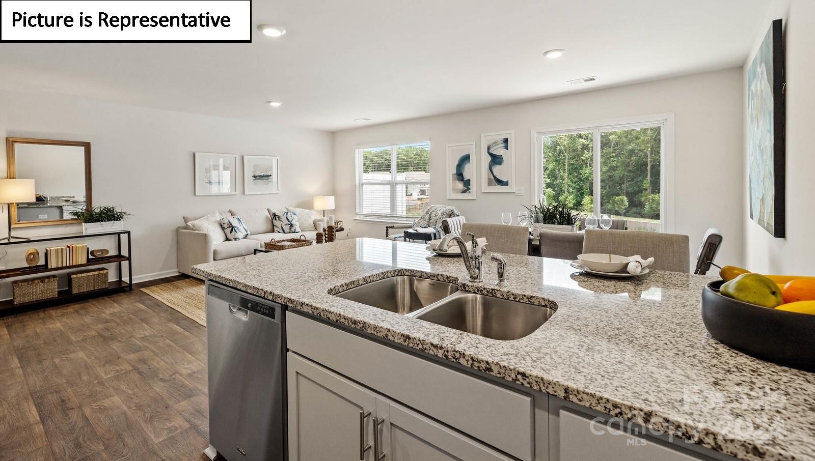
[[(205, 97), (205, 95), (202, 95)], [(24, 138), (90, 141), (95, 205), (121, 206), (132, 213), (134, 275), (176, 270), (175, 228), (182, 215), (216, 209), (300, 206), (314, 195), (333, 194), (332, 138), (328, 132), (138, 108), (57, 94), (0, 91), (0, 134)], [(5, 158), (5, 143), (0, 155)], [(280, 156), (280, 194), (196, 196), (193, 152)], [(239, 160), (240, 161), (240, 160)], [(0, 177), (5, 177), (5, 162)], [(0, 233), (6, 235), (6, 207)], [(15, 228), (15, 235), (59, 234), (70, 226)], [(76, 225), (73, 225), (73, 230)], [(79, 227), (81, 231), (81, 227)], [(0, 259), (24, 265), (26, 245)], [(0, 252), (2, 257), (2, 252)]]

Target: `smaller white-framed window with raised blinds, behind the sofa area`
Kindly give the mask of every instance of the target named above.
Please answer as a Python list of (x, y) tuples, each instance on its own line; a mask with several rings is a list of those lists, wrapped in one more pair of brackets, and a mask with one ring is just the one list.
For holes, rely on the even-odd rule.
[(430, 143), (356, 151), (357, 215), (416, 218), (430, 204)]

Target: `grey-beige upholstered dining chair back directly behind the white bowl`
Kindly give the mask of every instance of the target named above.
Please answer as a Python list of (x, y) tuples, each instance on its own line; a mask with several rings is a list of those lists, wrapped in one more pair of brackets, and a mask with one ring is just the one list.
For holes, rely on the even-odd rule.
[(587, 230), (584, 253), (612, 253), (620, 256), (654, 257), (655, 270), (690, 272), (690, 244), (687, 235), (648, 231)]

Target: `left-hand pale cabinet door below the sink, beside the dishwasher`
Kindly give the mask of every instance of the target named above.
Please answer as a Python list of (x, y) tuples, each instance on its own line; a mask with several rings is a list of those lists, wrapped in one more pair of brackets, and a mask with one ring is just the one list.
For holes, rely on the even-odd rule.
[(297, 354), (287, 358), (289, 461), (371, 461), (375, 394)]

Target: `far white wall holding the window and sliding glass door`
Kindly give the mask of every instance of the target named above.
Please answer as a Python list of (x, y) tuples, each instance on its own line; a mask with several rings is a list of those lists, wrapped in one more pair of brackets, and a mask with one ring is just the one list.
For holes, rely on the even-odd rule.
[[(531, 129), (588, 121), (675, 114), (674, 231), (690, 237), (695, 257), (708, 227), (725, 235), (719, 262), (742, 263), (742, 69), (569, 94), (476, 111), (374, 125), (334, 134), (337, 217), (355, 215), (354, 151), (359, 144), (430, 139), (430, 197), (452, 204), (469, 221), (500, 222), (531, 202)], [(480, 135), (515, 130), (516, 177), (524, 196), (486, 194), (477, 200), (447, 200), (446, 145), (480, 142)], [(479, 146), (480, 148), (480, 146)], [(383, 224), (353, 222), (352, 235), (384, 236)], [(348, 228), (348, 226), (346, 226)]]

